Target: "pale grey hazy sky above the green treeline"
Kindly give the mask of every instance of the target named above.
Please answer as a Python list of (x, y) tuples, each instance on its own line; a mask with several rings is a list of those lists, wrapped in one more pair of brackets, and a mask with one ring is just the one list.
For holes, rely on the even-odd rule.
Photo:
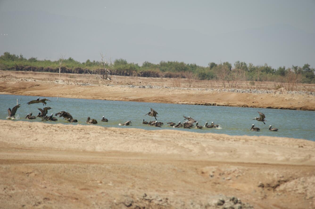
[(314, 11), (314, 0), (0, 0), (0, 54), (315, 67)]

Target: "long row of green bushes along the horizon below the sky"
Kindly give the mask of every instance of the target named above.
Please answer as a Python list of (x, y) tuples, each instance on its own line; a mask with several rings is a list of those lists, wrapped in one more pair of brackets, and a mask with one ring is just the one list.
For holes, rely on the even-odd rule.
[[(73, 58), (64, 59), (62, 62), (62, 73), (92, 73), (103, 69), (103, 63), (99, 61), (78, 62)], [(241, 80), (249, 81), (278, 81), (286, 78), (289, 74), (298, 74), (299, 82), (315, 83), (314, 68), (309, 64), (302, 67), (292, 66), (291, 68), (279, 67), (274, 69), (267, 64), (253, 65), (237, 61), (234, 68), (229, 62), (209, 63), (207, 67), (196, 64), (186, 64), (177, 61), (161, 61), (158, 64), (144, 62), (142, 66), (137, 63), (128, 63), (125, 59), (116, 59), (114, 63), (106, 63), (105, 67), (114, 75), (140, 76), (140, 77), (165, 77), (165, 78), (187, 78), (191, 72), (193, 79), (200, 80), (229, 80), (231, 76)], [(23, 55), (17, 56), (4, 52), (0, 56), (0, 70), (34, 71), (34, 72), (59, 72), (59, 61), (37, 60), (37, 58), (26, 59)], [(238, 72), (241, 76), (235, 75)], [(235, 78), (232, 79), (235, 79)], [(191, 76), (190, 76), (191, 78)]]

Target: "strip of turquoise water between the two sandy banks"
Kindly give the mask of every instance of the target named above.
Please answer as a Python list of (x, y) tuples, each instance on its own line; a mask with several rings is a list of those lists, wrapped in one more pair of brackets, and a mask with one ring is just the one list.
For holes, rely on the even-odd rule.
[[(48, 111), (51, 113), (58, 113), (66, 111), (72, 114), (78, 123), (71, 124), (86, 124), (87, 117), (95, 118), (98, 121), (97, 125), (105, 127), (120, 127), (120, 128), (141, 128), (146, 130), (156, 129), (174, 129), (167, 126), (166, 123), (174, 122), (183, 123), (185, 116), (191, 116), (198, 120), (199, 125), (204, 125), (205, 122), (211, 124), (219, 124), (221, 129), (204, 128), (200, 129), (182, 129), (176, 130), (193, 131), (198, 133), (217, 133), (228, 135), (265, 135), (265, 136), (279, 136), (279, 137), (293, 137), (307, 140), (315, 140), (315, 111), (301, 111), (301, 110), (281, 110), (281, 109), (264, 109), (264, 108), (249, 108), (249, 107), (219, 107), (219, 106), (202, 106), (202, 105), (180, 105), (180, 104), (163, 104), (163, 103), (147, 103), (147, 102), (122, 102), (122, 101), (106, 101), (106, 100), (88, 100), (88, 99), (70, 99), (56, 97), (40, 97), (40, 96), (18, 96), (18, 95), (0, 95), (0, 119), (6, 119), (8, 116), (7, 109), (16, 105), (18, 99), (21, 107), (17, 110), (16, 115), (19, 115), (17, 120), (22, 121), (37, 121), (42, 123), (63, 123), (69, 124), (66, 120), (58, 118), (58, 121), (41, 121), (40, 118), (34, 120), (24, 119), (28, 113), (33, 113), (37, 116), (39, 110), (43, 105), (31, 104), (26, 102), (48, 98), (51, 102), (47, 102), (47, 106), (53, 109)], [(150, 107), (158, 112), (158, 121), (164, 123), (162, 128), (148, 126), (142, 124), (142, 119), (145, 121), (154, 120), (150, 116), (144, 114), (150, 111)], [(260, 121), (252, 120), (259, 116), (257, 111), (266, 115), (266, 125)], [(102, 116), (105, 116), (109, 122), (101, 122)], [(118, 126), (118, 123), (124, 123), (128, 120), (132, 121), (132, 126)], [(260, 132), (250, 131), (251, 125), (261, 129)], [(268, 131), (269, 125), (273, 128), (278, 128), (278, 132)]]

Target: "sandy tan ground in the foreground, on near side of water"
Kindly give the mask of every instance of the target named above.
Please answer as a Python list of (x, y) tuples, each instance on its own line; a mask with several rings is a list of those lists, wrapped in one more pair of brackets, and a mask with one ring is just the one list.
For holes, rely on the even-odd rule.
[(315, 142), (0, 120), (0, 208), (315, 208)]

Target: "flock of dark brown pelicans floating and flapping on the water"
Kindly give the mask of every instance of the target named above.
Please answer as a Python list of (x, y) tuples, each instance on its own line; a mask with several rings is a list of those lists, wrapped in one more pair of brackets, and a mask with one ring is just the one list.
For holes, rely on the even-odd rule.
[[(47, 103), (46, 101), (50, 101), (49, 99), (39, 99), (37, 98), (37, 100), (32, 100), (30, 102), (27, 102), (28, 105), (30, 104), (37, 104), (37, 103), (43, 103), (43, 106), (45, 106)], [(51, 101), (50, 101), (51, 102)], [(8, 116), (8, 119), (11, 119), (11, 118), (15, 118), (15, 113), (17, 111), (17, 109), (20, 107), (20, 104), (16, 105), (15, 107), (12, 108), (9, 108), (8, 109), (8, 113), (9, 113), (9, 116)], [(32, 113), (29, 113), (26, 115), (25, 119), (29, 119), (29, 120), (32, 120), (32, 119), (35, 119), (35, 118), (42, 118), (42, 120), (45, 120), (45, 121), (57, 121), (58, 119), (53, 117), (53, 113), (51, 113), (50, 116), (48, 116), (48, 110), (52, 109), (51, 107), (44, 107), (43, 109), (41, 108), (38, 108), (38, 110), (40, 111), (40, 113), (38, 113), (38, 115), (35, 117), (35, 116), (32, 116)], [(264, 124), (265, 123), (265, 118), (266, 116), (263, 114), (263, 113), (259, 113), (259, 117), (256, 117), (254, 118), (253, 120), (257, 120), (257, 121), (261, 121), (263, 122)], [(155, 126), (155, 127), (162, 127), (163, 125), (163, 122), (157, 122), (157, 111), (155, 111), (154, 109), (150, 108), (150, 112), (146, 113), (146, 115), (148, 116), (151, 116), (151, 117), (154, 117), (155, 120), (154, 121), (150, 121), (150, 122), (147, 122), (143, 119), (142, 121), (142, 124), (147, 124), (149, 126)], [(55, 116), (59, 116), (60, 117), (63, 117), (63, 119), (66, 119), (68, 122), (70, 123), (77, 123), (77, 119), (73, 119), (72, 115), (66, 111), (61, 111), (59, 113), (56, 113)], [(186, 121), (184, 121), (184, 123), (182, 124), (180, 121), (178, 122), (178, 124), (175, 124), (173, 122), (169, 122), (167, 124), (169, 124), (169, 126), (172, 126), (173, 128), (184, 128), (184, 129), (190, 129), (190, 128), (195, 128), (195, 129), (203, 129), (203, 128), (219, 128), (219, 125), (217, 124), (214, 124), (214, 122), (211, 122), (211, 125), (208, 125), (208, 122), (206, 122), (206, 124), (204, 126), (200, 126), (198, 125), (198, 121), (196, 121), (195, 119), (191, 118), (191, 117), (186, 117), (186, 116), (183, 116), (185, 118)], [(103, 118), (101, 119), (102, 122), (108, 122), (108, 119), (105, 118), (105, 116), (103, 116)], [(266, 121), (267, 122), (267, 121)], [(88, 117), (88, 119), (85, 121), (85, 123), (87, 124), (97, 124), (97, 120), (96, 119), (91, 119), (90, 117)], [(194, 125), (196, 123), (196, 125)], [(129, 121), (126, 121), (125, 123), (119, 123), (118, 125), (120, 126), (127, 126), (127, 125), (131, 125), (131, 120)], [(251, 129), (252, 131), (260, 131), (260, 128), (257, 128), (255, 127), (255, 124), (252, 124), (252, 127)], [(269, 131), (278, 131), (278, 129), (276, 128), (272, 128), (272, 125), (269, 126)]]

